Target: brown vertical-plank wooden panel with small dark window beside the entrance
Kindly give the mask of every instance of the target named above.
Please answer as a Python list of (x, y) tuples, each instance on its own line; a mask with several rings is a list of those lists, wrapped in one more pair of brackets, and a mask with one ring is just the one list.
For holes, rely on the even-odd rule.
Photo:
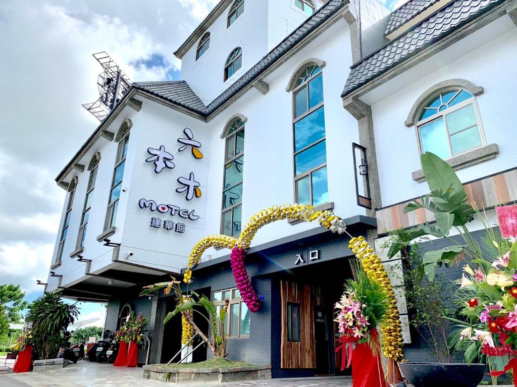
[[(311, 287), (280, 281), (282, 299), (281, 368), (316, 368)], [(287, 341), (287, 303), (300, 304), (300, 342)]]

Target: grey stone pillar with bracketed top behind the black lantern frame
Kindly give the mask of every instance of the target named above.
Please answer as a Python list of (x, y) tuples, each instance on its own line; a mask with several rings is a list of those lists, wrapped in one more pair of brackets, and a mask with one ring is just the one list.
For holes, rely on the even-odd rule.
[[(373, 132), (372, 108), (358, 98), (344, 98), (343, 107), (357, 120), (359, 145), (366, 148), (368, 159), (368, 181), (370, 183), (371, 208), (366, 209), (369, 216), (375, 215), (375, 209), (382, 207), (381, 185), (377, 168), (377, 152), (375, 150), (375, 135)], [(363, 179), (366, 191), (366, 179)]]

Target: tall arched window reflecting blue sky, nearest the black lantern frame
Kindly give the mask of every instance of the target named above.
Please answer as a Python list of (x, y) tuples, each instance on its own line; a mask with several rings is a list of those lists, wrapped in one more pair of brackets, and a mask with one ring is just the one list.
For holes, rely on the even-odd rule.
[(325, 111), (321, 67), (301, 71), (293, 91), (296, 202), (314, 206), (328, 202)]

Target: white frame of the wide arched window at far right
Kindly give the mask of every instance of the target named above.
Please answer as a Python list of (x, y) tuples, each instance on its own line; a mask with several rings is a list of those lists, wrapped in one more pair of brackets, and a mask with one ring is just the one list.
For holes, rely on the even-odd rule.
[[(450, 159), (452, 159), (454, 157), (460, 156), (461, 154), (465, 154), (465, 153), (468, 153), (468, 152), (473, 151), (475, 149), (479, 149), (479, 148), (482, 148), (482, 147), (486, 146), (486, 139), (485, 139), (485, 136), (484, 136), (483, 125), (482, 125), (482, 122), (481, 122), (481, 116), (479, 114), (477, 98), (476, 98), (475, 95), (472, 94), (472, 92), (470, 92), (469, 90), (467, 90), (465, 88), (462, 88), (462, 87), (451, 87), (451, 88), (444, 89), (444, 90), (439, 91), (439, 92), (435, 92), (435, 94), (433, 94), (432, 97), (428, 98), (427, 102), (425, 102), (423, 107), (419, 110), (418, 116), (420, 116), (422, 114), (422, 112), (425, 110), (425, 107), (427, 107), (427, 105), (430, 102), (432, 102), (433, 100), (435, 100), (437, 97), (439, 97), (440, 100), (443, 103), (442, 95), (444, 93), (448, 92), (448, 91), (453, 91), (453, 90), (458, 90), (458, 91), (454, 95), (454, 97), (452, 97), (449, 100), (449, 102), (452, 101), (454, 98), (456, 98), (462, 91), (468, 92), (468, 94), (470, 94), (472, 97), (470, 97), (470, 98), (468, 98), (468, 99), (466, 99), (464, 101), (461, 101), (461, 102), (459, 102), (459, 103), (457, 103), (457, 104), (455, 104), (455, 105), (453, 105), (451, 107), (447, 107), (447, 109), (444, 109), (441, 112), (437, 111), (435, 114), (433, 114), (433, 115), (431, 115), (429, 117), (420, 119), (420, 120), (415, 122), (415, 131), (416, 131), (416, 136), (417, 136), (417, 141), (418, 141), (418, 151), (420, 152), (420, 154), (422, 154), (424, 152), (423, 151), (423, 145), (422, 145), (422, 138), (420, 136), (420, 128), (425, 126), (425, 125), (428, 125), (431, 122), (437, 121), (439, 119), (443, 119), (443, 121), (444, 121), (444, 130), (445, 130), (445, 135), (446, 135), (446, 138), (447, 138), (447, 146), (448, 146), (448, 150), (449, 150), (449, 157), (445, 158), (444, 160), (450, 160)], [(466, 106), (468, 106), (470, 104), (472, 104), (473, 107), (474, 107), (474, 115), (476, 117), (476, 124), (475, 125), (471, 125), (471, 126), (466, 127), (466, 128), (463, 128), (460, 131), (454, 132), (452, 135), (457, 134), (457, 133), (461, 133), (461, 132), (463, 132), (465, 130), (468, 130), (468, 129), (472, 129), (472, 128), (474, 128), (477, 125), (478, 133), (479, 133), (479, 138), (481, 140), (481, 144), (479, 146), (476, 146), (476, 147), (473, 147), (473, 148), (470, 148), (470, 149), (466, 149), (466, 150), (464, 150), (462, 152), (454, 154), (452, 152), (452, 145), (451, 145), (451, 141), (450, 141), (451, 134), (449, 134), (449, 128), (448, 128), (448, 125), (447, 125), (446, 116), (451, 114), (451, 113), (454, 113), (455, 111), (461, 110), (461, 109), (463, 109), (464, 107), (466, 107)], [(439, 106), (438, 106), (437, 109), (439, 109)]]

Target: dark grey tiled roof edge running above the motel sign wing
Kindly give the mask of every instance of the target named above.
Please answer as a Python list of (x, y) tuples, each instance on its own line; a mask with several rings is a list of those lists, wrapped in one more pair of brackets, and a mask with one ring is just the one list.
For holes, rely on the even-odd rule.
[[(223, 3), (223, 1), (221, 1), (219, 4)], [(219, 4), (216, 6), (216, 8), (219, 6)], [(277, 60), (282, 58), (289, 50), (295, 47), (297, 43), (312, 33), (346, 4), (348, 4), (348, 0), (330, 0), (327, 2), (320, 9), (314, 12), (311, 17), (300, 24), (290, 35), (282, 40), (277, 45), (277, 47), (273, 48), (251, 69), (241, 75), (238, 80), (236, 80), (230, 87), (224, 90), (208, 106), (205, 106), (201, 98), (199, 98), (194, 93), (194, 91), (192, 91), (190, 86), (185, 81), (134, 82), (131, 85), (131, 88), (128, 90), (126, 97), (131, 94), (132, 90), (143, 90), (153, 94), (154, 96), (183, 106), (193, 113), (199, 114), (200, 116), (206, 118), (210, 114), (214, 113), (217, 109), (219, 109), (219, 107), (224, 105), (224, 103), (229, 101), (232, 97), (237, 95), (239, 91), (249, 86), (252, 82), (256, 81), (259, 76), (273, 64), (275, 64)], [(75, 153), (73, 158), (57, 175), (55, 178), (56, 181), (59, 181), (63, 175), (65, 175), (68, 169), (72, 166), (74, 160), (80, 156), (81, 152), (86, 148), (88, 143), (91, 142), (100, 133), (104, 124), (110, 120), (113, 113), (117, 110), (117, 107), (124, 103), (124, 101), (127, 99), (126, 97), (118, 102), (110, 114), (108, 114), (108, 116), (102, 120), (100, 125), (88, 137), (88, 140), (86, 140), (78, 152)]]

